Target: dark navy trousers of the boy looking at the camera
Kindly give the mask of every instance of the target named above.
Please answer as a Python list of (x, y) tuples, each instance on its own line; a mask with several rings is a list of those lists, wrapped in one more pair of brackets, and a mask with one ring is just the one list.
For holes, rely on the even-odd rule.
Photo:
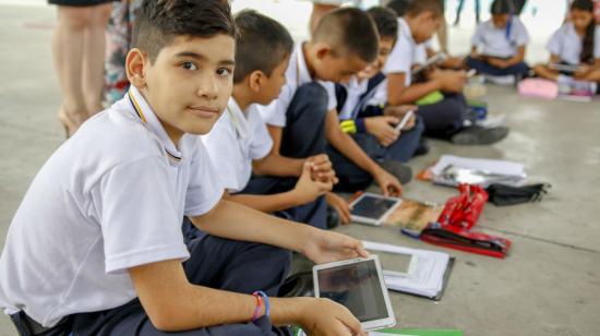
[[(232, 241), (208, 235), (188, 243), (190, 259), (183, 263), (190, 283), (228, 291), (252, 293), (262, 290), (276, 296), (288, 272), (291, 253), (269, 245)], [(203, 304), (199, 302), (199, 304)], [(248, 316), (250, 320), (251, 316)], [(263, 316), (254, 323), (218, 325), (189, 332), (156, 329), (137, 299), (111, 310), (74, 314), (60, 327), (43, 335), (287, 335)], [(72, 334), (71, 334), (72, 333)]]

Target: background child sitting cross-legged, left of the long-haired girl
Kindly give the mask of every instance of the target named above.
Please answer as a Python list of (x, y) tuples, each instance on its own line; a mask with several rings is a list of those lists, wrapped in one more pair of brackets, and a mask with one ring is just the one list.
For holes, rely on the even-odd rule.
[(519, 81), (529, 72), (525, 63), (529, 33), (514, 15), (511, 0), (495, 0), (490, 11), (492, 19), (480, 24), (471, 39), (467, 65), (490, 79), (514, 75), (512, 80)]

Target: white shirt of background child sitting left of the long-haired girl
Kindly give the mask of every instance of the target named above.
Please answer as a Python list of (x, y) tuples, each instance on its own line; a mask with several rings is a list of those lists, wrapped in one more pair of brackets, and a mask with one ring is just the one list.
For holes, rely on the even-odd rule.
[(497, 56), (501, 58), (513, 57), (517, 49), (529, 43), (527, 28), (516, 16), (512, 19), (511, 29), (497, 28), (492, 20), (481, 23), (471, 38), (471, 45), (477, 47), (481, 53)]

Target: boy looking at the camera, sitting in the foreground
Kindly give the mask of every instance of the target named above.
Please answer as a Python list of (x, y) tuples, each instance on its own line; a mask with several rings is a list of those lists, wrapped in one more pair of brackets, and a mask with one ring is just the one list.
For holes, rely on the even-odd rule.
[[(274, 335), (299, 324), (360, 334), (331, 300), (271, 298), (286, 250), (323, 263), (365, 255), (360, 241), (221, 201), (195, 135), (231, 93), (228, 2), (144, 0), (133, 32), (129, 93), (46, 161), (9, 228), (0, 308), (19, 333)], [(188, 247), (184, 214), (206, 232)]]

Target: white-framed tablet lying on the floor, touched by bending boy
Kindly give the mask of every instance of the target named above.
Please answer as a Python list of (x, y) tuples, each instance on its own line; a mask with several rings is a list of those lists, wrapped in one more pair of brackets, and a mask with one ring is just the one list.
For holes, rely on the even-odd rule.
[(352, 221), (381, 226), (401, 200), (365, 192), (350, 204)]

